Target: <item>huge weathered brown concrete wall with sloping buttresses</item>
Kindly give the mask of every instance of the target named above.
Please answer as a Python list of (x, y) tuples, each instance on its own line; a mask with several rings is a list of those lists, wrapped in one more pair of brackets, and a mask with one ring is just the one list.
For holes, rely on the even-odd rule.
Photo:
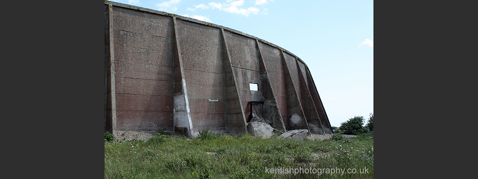
[(220, 25), (105, 1), (105, 71), (111, 132), (238, 134), (258, 115), (276, 129), (332, 133), (302, 60)]

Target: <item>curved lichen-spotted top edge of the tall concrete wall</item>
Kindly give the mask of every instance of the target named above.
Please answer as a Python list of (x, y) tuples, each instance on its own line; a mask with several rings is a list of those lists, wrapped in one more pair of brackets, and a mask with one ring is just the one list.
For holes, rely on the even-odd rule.
[(309, 67), (307, 66), (307, 64), (306, 64), (304, 61), (302, 61), (302, 59), (300, 59), (299, 57), (297, 57), (297, 56), (294, 55), (293, 53), (289, 52), (288, 50), (286, 50), (286, 49), (284, 49), (284, 48), (282, 48), (282, 47), (279, 47), (279, 46), (277, 46), (277, 45), (275, 45), (275, 44), (273, 44), (273, 43), (270, 43), (270, 42), (268, 42), (268, 41), (266, 41), (266, 40), (260, 39), (260, 38), (258, 38), (258, 37), (255, 37), (255, 36), (246, 34), (246, 33), (244, 33), (244, 32), (241, 32), (241, 31), (238, 31), (238, 30), (229, 28), (229, 27), (224, 27), (224, 26), (222, 26), (222, 25), (218, 25), (218, 24), (214, 24), (214, 23), (210, 23), (210, 22), (205, 22), (205, 21), (198, 20), (198, 19), (194, 19), (194, 18), (190, 18), (190, 17), (185, 17), (185, 16), (181, 16), (181, 15), (177, 15), (177, 14), (172, 14), (172, 13), (168, 13), (168, 12), (164, 12), (164, 11), (159, 11), (159, 10), (153, 10), (153, 9), (149, 9), (149, 8), (139, 7), (139, 6), (135, 6), (135, 5), (129, 5), (129, 4), (125, 4), (125, 3), (119, 3), (119, 2), (113, 2), (113, 1), (105, 0), (105, 4), (114, 5), (114, 6), (119, 6), (119, 7), (123, 7), (123, 8), (135, 9), (135, 10), (140, 10), (140, 11), (145, 11), (145, 12), (150, 12), (150, 13), (155, 13), (155, 14), (164, 15), (164, 16), (176, 17), (176, 19), (186, 20), (186, 21), (190, 21), (190, 22), (194, 22), (194, 23), (199, 23), (199, 24), (202, 24), (202, 25), (207, 25), (207, 26), (210, 26), (210, 27), (215, 27), (215, 28), (219, 28), (219, 29), (224, 29), (224, 30), (229, 31), (229, 32), (233, 32), (233, 33), (236, 33), (236, 34), (239, 34), (239, 35), (242, 35), (242, 36), (245, 36), (245, 37), (254, 39), (254, 40), (258, 40), (259, 42), (265, 43), (265, 44), (270, 45), (270, 46), (272, 46), (272, 47), (274, 47), (274, 48), (277, 48), (277, 49), (279, 49), (279, 50), (282, 50), (283, 52), (288, 53), (288, 54), (294, 56), (295, 58), (297, 58), (297, 60), (300, 61), (301, 63), (303, 63), (307, 69), (309, 68)]

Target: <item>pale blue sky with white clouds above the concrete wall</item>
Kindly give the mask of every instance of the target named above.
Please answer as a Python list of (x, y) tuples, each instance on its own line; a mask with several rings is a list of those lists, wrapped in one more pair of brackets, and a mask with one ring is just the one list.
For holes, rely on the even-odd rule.
[(111, 0), (239, 30), (302, 59), (332, 126), (373, 113), (373, 0)]

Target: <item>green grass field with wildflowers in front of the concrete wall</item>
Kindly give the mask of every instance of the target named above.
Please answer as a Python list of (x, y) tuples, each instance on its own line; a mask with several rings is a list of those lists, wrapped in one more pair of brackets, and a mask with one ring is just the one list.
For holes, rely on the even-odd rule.
[(207, 132), (190, 140), (163, 133), (148, 141), (105, 142), (105, 179), (170, 178), (372, 179), (373, 133), (324, 141)]

